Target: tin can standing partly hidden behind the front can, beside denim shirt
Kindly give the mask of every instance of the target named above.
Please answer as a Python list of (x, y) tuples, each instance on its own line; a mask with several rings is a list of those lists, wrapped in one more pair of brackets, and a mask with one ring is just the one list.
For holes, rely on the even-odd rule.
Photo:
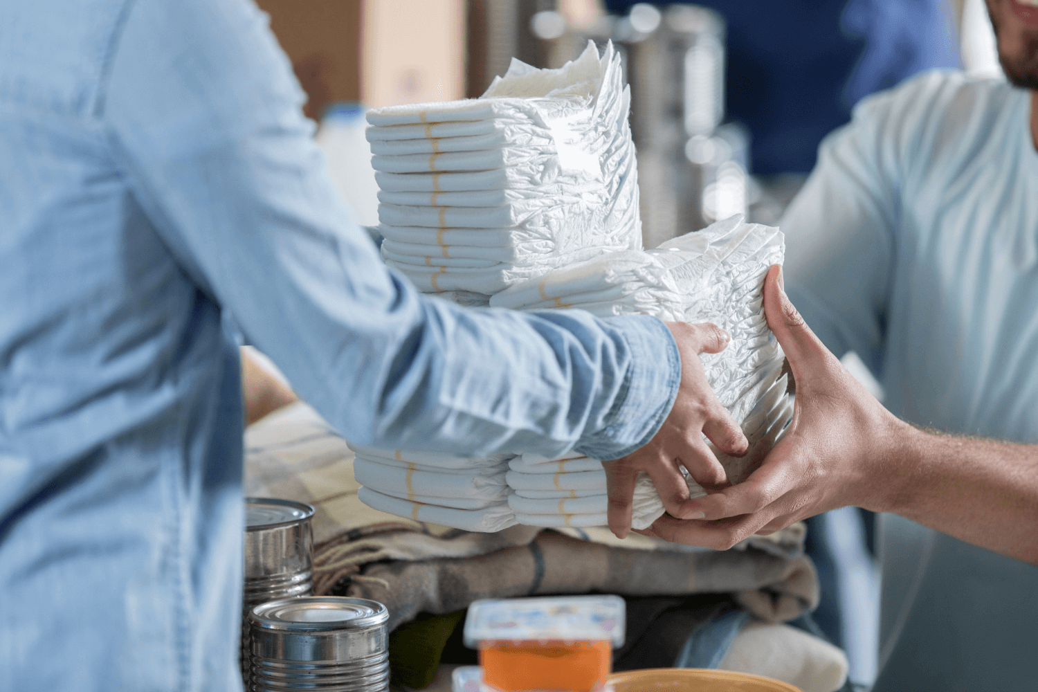
[(249, 675), (249, 611), (268, 601), (313, 592), (313, 507), (273, 498), (245, 498), (245, 588), (242, 594), (242, 679)]

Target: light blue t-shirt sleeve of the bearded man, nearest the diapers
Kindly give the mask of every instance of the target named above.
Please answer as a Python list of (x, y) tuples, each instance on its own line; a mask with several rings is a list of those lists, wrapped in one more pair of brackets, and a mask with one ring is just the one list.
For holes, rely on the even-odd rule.
[(854, 351), (880, 375), (902, 192), (925, 104), (941, 82), (929, 73), (864, 100), (819, 147), (818, 164), (780, 222), (786, 289), (837, 356)]

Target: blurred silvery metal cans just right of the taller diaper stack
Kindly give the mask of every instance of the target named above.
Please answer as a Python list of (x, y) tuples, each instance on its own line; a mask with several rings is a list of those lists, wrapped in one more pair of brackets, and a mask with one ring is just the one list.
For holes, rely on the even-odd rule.
[(745, 212), (748, 136), (720, 124), (725, 20), (696, 5), (638, 4), (616, 39), (628, 60), (645, 246)]

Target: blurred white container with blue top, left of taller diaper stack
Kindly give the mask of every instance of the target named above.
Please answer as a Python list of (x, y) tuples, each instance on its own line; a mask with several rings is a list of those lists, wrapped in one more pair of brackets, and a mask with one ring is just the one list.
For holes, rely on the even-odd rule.
[(331, 175), (356, 215), (357, 223), (375, 226), (379, 222), (379, 186), (364, 128), (362, 104), (335, 104), (325, 113), (313, 140), (328, 159)]

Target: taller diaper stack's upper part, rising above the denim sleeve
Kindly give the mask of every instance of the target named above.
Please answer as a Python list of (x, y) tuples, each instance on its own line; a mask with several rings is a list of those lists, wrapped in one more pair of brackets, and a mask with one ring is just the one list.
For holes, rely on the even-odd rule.
[(611, 44), (513, 60), (479, 99), (367, 112), (382, 256), (426, 293), (490, 296), (641, 247), (630, 90)]

